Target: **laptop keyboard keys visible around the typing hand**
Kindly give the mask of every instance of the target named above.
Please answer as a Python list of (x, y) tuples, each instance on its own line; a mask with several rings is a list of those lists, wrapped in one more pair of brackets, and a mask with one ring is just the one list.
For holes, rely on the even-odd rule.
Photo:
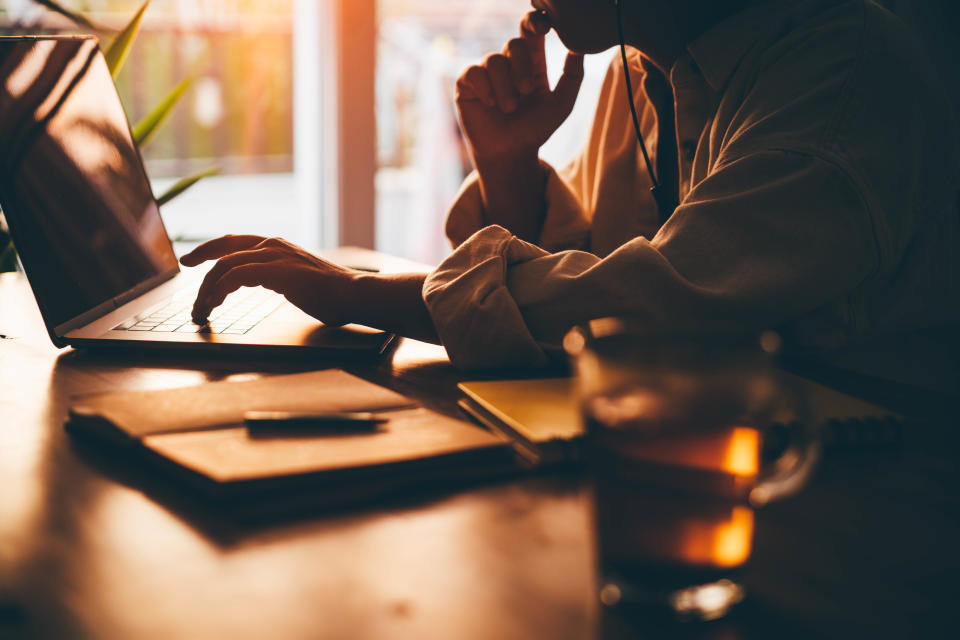
[(283, 304), (283, 296), (263, 287), (244, 287), (234, 291), (210, 313), (207, 324), (193, 322), (190, 312), (196, 290), (177, 293), (173, 298), (140, 313), (114, 327), (120, 331), (157, 333), (219, 333), (242, 335)]

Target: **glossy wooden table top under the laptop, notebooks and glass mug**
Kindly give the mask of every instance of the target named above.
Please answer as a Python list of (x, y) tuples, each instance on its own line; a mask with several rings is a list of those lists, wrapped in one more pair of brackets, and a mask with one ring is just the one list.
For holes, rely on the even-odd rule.
[[(296, 367), (58, 351), (18, 274), (0, 275), (0, 334), (0, 637), (646, 637), (594, 604), (576, 471), (239, 525), (151, 497), (165, 480), (136, 459), (78, 448), (70, 398)], [(449, 415), (456, 383), (477, 378), (409, 340), (345, 368)], [(826, 458), (801, 495), (758, 513), (746, 603), (666, 635), (950, 635), (956, 426), (917, 421), (895, 451)]]

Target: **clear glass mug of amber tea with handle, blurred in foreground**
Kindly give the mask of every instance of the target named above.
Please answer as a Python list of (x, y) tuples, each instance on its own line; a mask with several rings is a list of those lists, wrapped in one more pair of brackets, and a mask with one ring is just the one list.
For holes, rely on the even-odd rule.
[(744, 597), (754, 509), (799, 490), (817, 458), (779, 337), (651, 336), (595, 320), (564, 340), (594, 487), (599, 598), (684, 619)]

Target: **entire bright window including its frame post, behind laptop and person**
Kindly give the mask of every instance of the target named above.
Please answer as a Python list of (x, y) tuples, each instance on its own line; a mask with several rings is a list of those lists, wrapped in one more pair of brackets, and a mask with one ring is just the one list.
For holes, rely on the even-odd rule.
[[(63, 0), (121, 27), (141, 0)], [(435, 263), (443, 218), (470, 160), (457, 76), (498, 51), (521, 0), (153, 0), (117, 79), (137, 122), (181, 79), (190, 92), (144, 149), (161, 193), (211, 166), (163, 208), (175, 238), (277, 235), (307, 248), (355, 244)], [(0, 32), (70, 29), (32, 0), (0, 0)], [(542, 155), (583, 143), (613, 51), (590, 56), (573, 115)], [(547, 39), (552, 80), (565, 50)]]

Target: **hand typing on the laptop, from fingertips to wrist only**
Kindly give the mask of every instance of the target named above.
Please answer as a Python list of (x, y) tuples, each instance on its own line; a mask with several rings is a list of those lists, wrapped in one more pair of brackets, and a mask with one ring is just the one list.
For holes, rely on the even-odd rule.
[(282, 294), (294, 305), (329, 325), (347, 323), (356, 294), (357, 272), (322, 260), (278, 238), (223, 236), (210, 240), (180, 258), (195, 267), (217, 263), (200, 285), (193, 320), (203, 324), (210, 312), (240, 287), (263, 286)]

